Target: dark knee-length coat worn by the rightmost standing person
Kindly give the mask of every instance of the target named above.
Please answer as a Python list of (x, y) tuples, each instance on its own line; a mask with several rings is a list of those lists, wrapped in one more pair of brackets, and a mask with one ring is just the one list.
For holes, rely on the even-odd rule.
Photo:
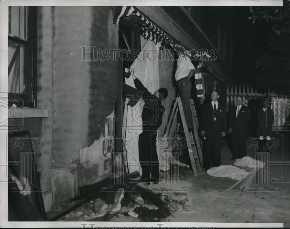
[[(272, 125), (274, 121), (274, 112), (270, 108), (267, 108), (266, 111), (261, 108), (258, 111), (258, 136), (270, 136), (272, 133)], [(265, 125), (266, 124), (266, 125)]]

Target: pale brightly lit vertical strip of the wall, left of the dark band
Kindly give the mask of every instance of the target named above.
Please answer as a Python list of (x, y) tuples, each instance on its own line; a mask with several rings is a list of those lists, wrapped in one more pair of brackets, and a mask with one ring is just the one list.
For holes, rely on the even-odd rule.
[(52, 7), (52, 18), (53, 166), (68, 167), (87, 146), (90, 66), (80, 46), (90, 46), (91, 8)]

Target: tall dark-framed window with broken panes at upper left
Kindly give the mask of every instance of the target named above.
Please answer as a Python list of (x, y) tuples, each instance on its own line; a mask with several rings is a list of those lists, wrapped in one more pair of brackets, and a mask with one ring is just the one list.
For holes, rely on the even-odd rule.
[(9, 98), (36, 107), (37, 7), (9, 6), (8, 23)]

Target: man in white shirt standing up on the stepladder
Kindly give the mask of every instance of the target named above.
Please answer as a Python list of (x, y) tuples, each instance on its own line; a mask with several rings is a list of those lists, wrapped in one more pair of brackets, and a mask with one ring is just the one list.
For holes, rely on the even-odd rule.
[(184, 109), (187, 128), (193, 129), (193, 120), (189, 100), (191, 99), (191, 77), (194, 75), (195, 68), (191, 59), (186, 55), (182, 47), (175, 48), (177, 54), (177, 69), (175, 71), (175, 80), (178, 83), (179, 95)]

